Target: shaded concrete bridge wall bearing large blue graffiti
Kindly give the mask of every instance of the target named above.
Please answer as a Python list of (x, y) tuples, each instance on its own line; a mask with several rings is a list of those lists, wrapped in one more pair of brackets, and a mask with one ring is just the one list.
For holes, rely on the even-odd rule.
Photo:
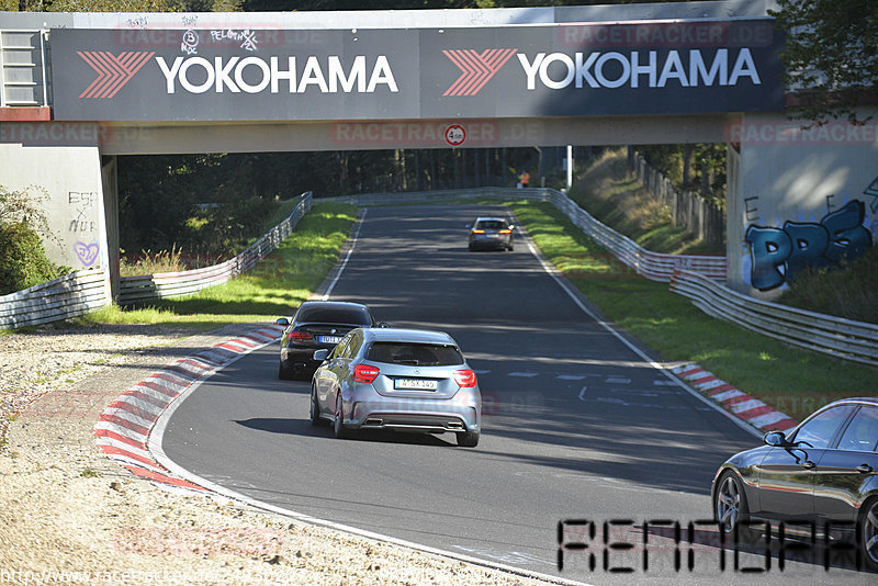
[(729, 139), (740, 144), (741, 169), (729, 191), (731, 286), (775, 298), (807, 264), (837, 266), (874, 246), (878, 122), (802, 129), (753, 114), (730, 127)]

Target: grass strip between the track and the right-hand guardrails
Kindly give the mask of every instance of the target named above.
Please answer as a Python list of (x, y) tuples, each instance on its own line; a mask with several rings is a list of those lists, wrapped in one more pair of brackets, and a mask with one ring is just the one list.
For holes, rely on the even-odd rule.
[(664, 360), (693, 361), (801, 419), (825, 403), (863, 396), (876, 371), (751, 333), (620, 266), (548, 203), (510, 205), (542, 253), (605, 315)]

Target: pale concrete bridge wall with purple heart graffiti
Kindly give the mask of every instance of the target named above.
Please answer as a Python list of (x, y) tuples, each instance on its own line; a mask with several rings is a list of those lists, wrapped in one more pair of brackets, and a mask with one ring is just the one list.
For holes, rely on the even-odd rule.
[(42, 207), (54, 237), (43, 241), (53, 262), (74, 269), (109, 266), (98, 124), (4, 122), (0, 185), (45, 190)]

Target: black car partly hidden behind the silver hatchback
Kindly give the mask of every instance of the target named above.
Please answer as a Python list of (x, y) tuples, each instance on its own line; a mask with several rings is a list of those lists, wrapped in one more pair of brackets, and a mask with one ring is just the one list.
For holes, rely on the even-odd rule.
[(306, 301), (292, 320), (281, 317), (277, 324), (284, 326), (278, 364), (278, 377), (283, 380), (309, 376), (320, 364), (314, 351), (331, 350), (351, 329), (387, 327), (375, 322), (367, 305), (339, 301)]

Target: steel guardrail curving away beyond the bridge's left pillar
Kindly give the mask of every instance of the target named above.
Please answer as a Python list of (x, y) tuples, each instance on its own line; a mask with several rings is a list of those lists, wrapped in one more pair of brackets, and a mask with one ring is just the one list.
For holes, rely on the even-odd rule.
[(219, 264), (191, 271), (164, 272), (123, 277), (119, 284), (119, 303), (126, 305), (144, 303), (166, 297), (191, 295), (202, 289), (225, 283), (232, 278), (248, 271), (257, 262), (269, 256), (284, 238), (292, 234), (299, 221), (312, 205), (312, 194), (300, 196), (290, 215), (271, 228), (264, 236), (244, 252)]

